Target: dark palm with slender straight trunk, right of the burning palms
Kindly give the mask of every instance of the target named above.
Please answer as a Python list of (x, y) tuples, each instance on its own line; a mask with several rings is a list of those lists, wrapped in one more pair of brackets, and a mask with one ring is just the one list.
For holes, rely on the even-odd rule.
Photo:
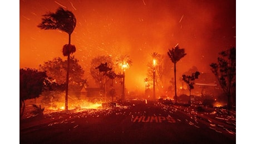
[(167, 53), (171, 61), (174, 63), (174, 86), (175, 86), (175, 103), (177, 103), (177, 93), (176, 93), (176, 63), (183, 58), (186, 53), (185, 49), (180, 49), (179, 45), (177, 44), (169, 52)]

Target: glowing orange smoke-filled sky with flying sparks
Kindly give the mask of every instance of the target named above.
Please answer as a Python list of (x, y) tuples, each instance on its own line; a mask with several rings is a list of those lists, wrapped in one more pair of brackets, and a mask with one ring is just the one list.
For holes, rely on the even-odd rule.
[(68, 43), (68, 34), (37, 27), (43, 14), (56, 12), (58, 7), (75, 14), (73, 55), (88, 80), (91, 59), (98, 55), (130, 55), (133, 63), (126, 70), (126, 86), (144, 89), (153, 52), (167, 55), (168, 49), (179, 43), (187, 55), (177, 63), (178, 73), (192, 66), (211, 73), (209, 64), (216, 62), (218, 53), (236, 46), (236, 3), (232, 0), (23, 0), (19, 4), (20, 68), (37, 69), (55, 57), (66, 59), (62, 47)]

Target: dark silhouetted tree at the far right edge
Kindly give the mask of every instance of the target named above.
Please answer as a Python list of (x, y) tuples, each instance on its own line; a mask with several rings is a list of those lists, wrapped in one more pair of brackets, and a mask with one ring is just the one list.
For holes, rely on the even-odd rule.
[(219, 53), (218, 63), (211, 63), (210, 69), (219, 81), (228, 97), (228, 110), (232, 106), (232, 95), (235, 93), (236, 49), (230, 48)]

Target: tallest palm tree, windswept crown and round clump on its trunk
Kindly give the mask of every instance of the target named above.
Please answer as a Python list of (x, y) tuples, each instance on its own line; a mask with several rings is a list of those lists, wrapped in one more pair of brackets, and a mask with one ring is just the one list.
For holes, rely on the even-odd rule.
[(65, 96), (65, 110), (67, 111), (67, 96), (68, 96), (68, 77), (70, 70), (70, 54), (76, 52), (75, 45), (71, 45), (71, 34), (76, 27), (75, 15), (70, 11), (65, 11), (59, 7), (56, 13), (49, 12), (43, 15), (42, 23), (37, 25), (41, 29), (58, 29), (68, 33), (68, 44), (63, 46), (63, 55), (67, 56), (67, 78), (66, 78), (66, 96)]

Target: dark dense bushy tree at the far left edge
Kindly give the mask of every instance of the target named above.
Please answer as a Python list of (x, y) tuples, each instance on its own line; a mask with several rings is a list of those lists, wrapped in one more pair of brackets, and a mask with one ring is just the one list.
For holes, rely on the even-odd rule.
[(19, 69), (19, 109), (23, 115), (25, 100), (34, 99), (42, 94), (44, 82), (47, 78), (45, 72), (36, 69)]

